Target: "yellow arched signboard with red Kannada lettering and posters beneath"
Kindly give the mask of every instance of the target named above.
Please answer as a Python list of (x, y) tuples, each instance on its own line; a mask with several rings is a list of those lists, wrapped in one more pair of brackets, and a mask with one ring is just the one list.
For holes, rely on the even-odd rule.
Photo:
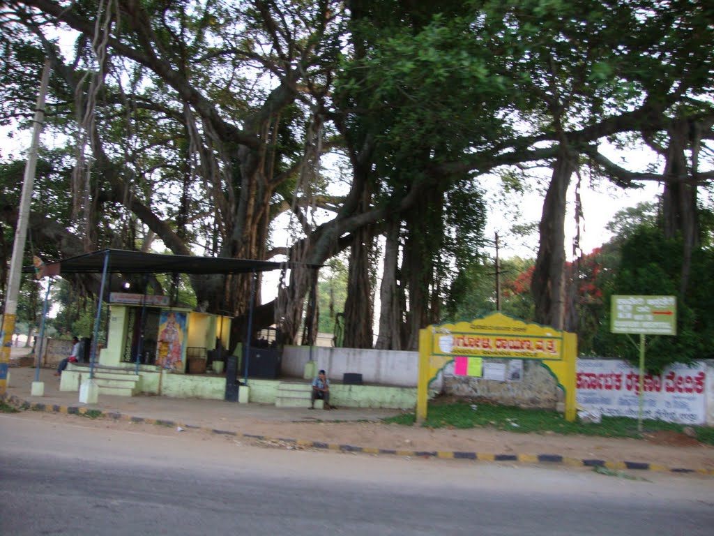
[(501, 313), (421, 330), (417, 419), (426, 419), (428, 385), (446, 364), (453, 362), (458, 375), (480, 377), (489, 358), (539, 360), (565, 391), (565, 418), (575, 420), (575, 334)]

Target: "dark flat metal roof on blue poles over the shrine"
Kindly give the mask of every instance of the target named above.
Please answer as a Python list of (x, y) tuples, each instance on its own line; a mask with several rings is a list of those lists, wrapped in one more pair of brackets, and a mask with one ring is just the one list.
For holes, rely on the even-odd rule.
[[(47, 262), (47, 272), (54, 274), (101, 274), (104, 259), (109, 254), (106, 271), (122, 274), (245, 274), (280, 269), (282, 263), (226, 257), (193, 257), (192, 255), (164, 255), (132, 252), (125, 249), (100, 249), (99, 251)], [(318, 268), (318, 265), (311, 267)], [(34, 267), (24, 267), (24, 272), (34, 272)]]

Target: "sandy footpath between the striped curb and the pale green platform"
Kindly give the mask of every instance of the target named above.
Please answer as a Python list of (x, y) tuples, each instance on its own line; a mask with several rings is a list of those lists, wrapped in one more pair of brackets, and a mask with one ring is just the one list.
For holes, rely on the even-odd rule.
[[(13, 352), (15, 354), (16, 352)], [(507, 445), (511, 437), (520, 436), (509, 432), (481, 430), (478, 432), (481, 439), (470, 439), (468, 449), (461, 444), (449, 445), (448, 439), (451, 431), (431, 431), (431, 437), (436, 435), (435, 443), (432, 441), (428, 450), (413, 448), (419, 445), (418, 435), (428, 430), (418, 430), (416, 427), (390, 427), (378, 425), (384, 417), (399, 415), (400, 410), (370, 410), (358, 408), (339, 408), (335, 411), (308, 410), (305, 408), (286, 408), (263, 404), (237, 404), (223, 400), (205, 399), (178, 399), (171, 397), (157, 397), (140, 395), (136, 397), (116, 397), (100, 394), (96, 404), (82, 404), (79, 402), (79, 392), (59, 391), (59, 377), (54, 376), (54, 369), (40, 369), (39, 381), (44, 382), (44, 396), (31, 396), (31, 384), (35, 381), (36, 369), (34, 367), (11, 367), (10, 381), (6, 392), (6, 400), (16, 407), (27, 410), (44, 411), (58, 414), (82, 414), (91, 412), (96, 416), (115, 420), (131, 422), (144, 422), (154, 425), (183, 427), (184, 429), (199, 429), (219, 435), (233, 435), (252, 440), (277, 441), (287, 445), (316, 450), (327, 449), (342, 452), (364, 452), (371, 455), (397, 455), (405, 457), (435, 457), (446, 459), (483, 460), (490, 462), (521, 462), (540, 463), (545, 465), (563, 464), (575, 467), (603, 467), (608, 470), (658, 470), (668, 472), (696, 472), (702, 475), (714, 475), (714, 449), (705, 450), (695, 461), (694, 466), (680, 467), (671, 465), (676, 463), (668, 460), (668, 452), (663, 450), (659, 456), (657, 452), (650, 455), (646, 461), (627, 461), (613, 459), (613, 455), (602, 459), (590, 453), (572, 450), (570, 455), (565, 444), (577, 438), (568, 436), (542, 437), (542, 441), (535, 446), (530, 445), (526, 452), (519, 452), (518, 447)], [(370, 425), (369, 423), (372, 422)], [(357, 435), (341, 434), (341, 427), (351, 424), (353, 427), (363, 427), (363, 433)], [(384, 439), (381, 445), (370, 444), (371, 431), (368, 427), (376, 429), (384, 435), (393, 437), (390, 448), (385, 448)], [(320, 427), (319, 436), (314, 427)], [(268, 430), (271, 435), (266, 435)], [(283, 434), (284, 432), (284, 434)], [(456, 431), (454, 431), (456, 432)], [(304, 434), (304, 435), (303, 435)], [(503, 439), (503, 435), (508, 439)], [(312, 439), (308, 439), (311, 437)], [(390, 439), (392, 439), (390, 437)], [(412, 439), (410, 439), (412, 438)], [(416, 438), (416, 439), (415, 439)], [(440, 442), (442, 438), (444, 442)], [(318, 440), (316, 440), (318, 439)], [(582, 438), (580, 438), (582, 441)], [(595, 440), (588, 440), (595, 442)], [(598, 439), (597, 441), (605, 441)], [(628, 440), (620, 440), (628, 441)], [(629, 440), (638, 441), (638, 440)], [(513, 443), (518, 445), (518, 442)], [(523, 445), (521, 445), (523, 446)], [(408, 448), (403, 448), (408, 447)], [(508, 447), (508, 448), (506, 448)], [(463, 448), (463, 450), (462, 450)], [(496, 449), (502, 448), (501, 452)], [(598, 447), (599, 448), (599, 447)], [(636, 452), (629, 455), (637, 459)], [(555, 451), (555, 452), (554, 452)], [(538, 453), (540, 452), (540, 453)], [(558, 453), (560, 452), (560, 453)], [(621, 450), (615, 452), (623, 452)], [(627, 452), (627, 451), (625, 451)], [(594, 452), (593, 452), (594, 454)], [(617, 454), (615, 454), (615, 457)]]

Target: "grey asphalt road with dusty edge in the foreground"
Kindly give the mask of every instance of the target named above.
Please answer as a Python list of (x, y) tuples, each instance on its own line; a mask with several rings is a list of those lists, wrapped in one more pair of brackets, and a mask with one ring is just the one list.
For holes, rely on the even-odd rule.
[(0, 415), (0, 535), (714, 532), (712, 477), (278, 450), (154, 428)]

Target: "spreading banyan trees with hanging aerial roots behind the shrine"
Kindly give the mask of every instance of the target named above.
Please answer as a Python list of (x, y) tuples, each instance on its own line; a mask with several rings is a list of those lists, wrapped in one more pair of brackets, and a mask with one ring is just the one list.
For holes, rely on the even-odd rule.
[[(415, 347), (483, 253), (481, 181), (549, 169), (533, 315), (570, 329), (565, 200), (585, 170), (665, 184), (680, 292), (691, 284), (713, 173), (711, 19), (680, 0), (6, 0), (0, 121), (28, 124), (49, 58), (55, 147), (30, 222), (42, 256), (283, 256), (256, 326), (294, 340), (318, 314), (304, 265), (348, 251), (353, 346), (373, 344), (378, 294), (378, 346)], [(663, 165), (628, 169), (605, 142)], [(10, 226), (16, 165), (1, 176)], [(190, 284), (206, 309), (246, 312), (248, 278)]]

